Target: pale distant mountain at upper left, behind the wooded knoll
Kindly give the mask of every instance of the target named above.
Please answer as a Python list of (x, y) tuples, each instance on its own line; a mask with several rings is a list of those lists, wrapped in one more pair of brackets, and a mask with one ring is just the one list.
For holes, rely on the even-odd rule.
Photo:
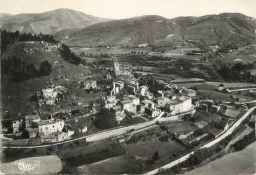
[[(1, 16), (0, 16), (1, 17)], [(32, 34), (54, 34), (67, 28), (84, 28), (109, 19), (86, 15), (70, 9), (57, 9), (45, 13), (19, 14), (5, 16), (1, 19), (1, 28)]]

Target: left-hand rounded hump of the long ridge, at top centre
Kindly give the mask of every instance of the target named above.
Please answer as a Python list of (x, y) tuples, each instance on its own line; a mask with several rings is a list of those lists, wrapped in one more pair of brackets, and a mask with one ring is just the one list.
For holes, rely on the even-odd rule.
[(160, 16), (143, 16), (94, 24), (74, 32), (70, 46), (109, 46), (151, 43), (172, 34), (179, 36), (176, 24)]

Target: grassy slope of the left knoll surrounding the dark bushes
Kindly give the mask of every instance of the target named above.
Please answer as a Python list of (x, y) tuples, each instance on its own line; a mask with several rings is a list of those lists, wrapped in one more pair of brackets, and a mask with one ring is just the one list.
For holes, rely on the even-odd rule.
[[(3, 103), (3, 111), (8, 110), (10, 114), (16, 118), (17, 114), (29, 114), (30, 112), (38, 110), (38, 106), (35, 102), (31, 101), (31, 96), (36, 94), (36, 91), (45, 87), (46, 82), (53, 81), (54, 85), (62, 85), (65, 83), (64, 79), (60, 79), (58, 75), (68, 75), (68, 79), (75, 79), (75, 75), (81, 75), (86, 72), (86, 69), (82, 66), (72, 65), (57, 57), (57, 50), (52, 52), (36, 51), (32, 54), (23, 53), (23, 46), (29, 47), (31, 44), (25, 42), (18, 42), (13, 44), (7, 52), (3, 53), (3, 58), (17, 55), (26, 63), (34, 63), (34, 65), (40, 65), (41, 61), (48, 60), (53, 67), (53, 72), (44, 77), (36, 77), (34, 79), (24, 82), (9, 81), (5, 77), (2, 79), (1, 85), (1, 100)], [(42, 44), (35, 44), (38, 48), (43, 48)], [(54, 65), (54, 61), (58, 61), (57, 65)]]

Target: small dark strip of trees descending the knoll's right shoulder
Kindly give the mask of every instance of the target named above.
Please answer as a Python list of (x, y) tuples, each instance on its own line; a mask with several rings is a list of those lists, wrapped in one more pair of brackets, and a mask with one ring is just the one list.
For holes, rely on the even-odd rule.
[(71, 52), (70, 48), (65, 44), (62, 44), (59, 49), (61, 57), (63, 57), (66, 61), (79, 65), (81, 63), (80, 57), (76, 56), (74, 52)]

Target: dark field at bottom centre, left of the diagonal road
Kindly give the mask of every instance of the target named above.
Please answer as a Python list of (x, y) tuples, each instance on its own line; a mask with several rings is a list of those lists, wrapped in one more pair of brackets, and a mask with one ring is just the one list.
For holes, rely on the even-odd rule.
[(162, 161), (166, 163), (169, 158), (172, 158), (173, 153), (184, 149), (176, 141), (124, 144), (123, 147), (127, 155), (109, 158), (89, 166), (80, 166), (77, 168), (78, 172), (81, 174), (101, 174), (102, 172), (104, 174), (141, 174), (147, 170), (147, 160), (151, 160), (156, 151), (159, 151), (159, 163)]

